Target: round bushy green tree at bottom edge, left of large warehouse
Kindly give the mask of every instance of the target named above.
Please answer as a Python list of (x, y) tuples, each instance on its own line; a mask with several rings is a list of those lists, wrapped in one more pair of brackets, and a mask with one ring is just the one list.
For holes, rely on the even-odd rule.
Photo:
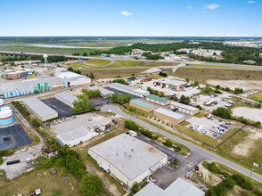
[(102, 182), (99, 176), (86, 174), (83, 176), (79, 188), (83, 196), (96, 196), (102, 192)]

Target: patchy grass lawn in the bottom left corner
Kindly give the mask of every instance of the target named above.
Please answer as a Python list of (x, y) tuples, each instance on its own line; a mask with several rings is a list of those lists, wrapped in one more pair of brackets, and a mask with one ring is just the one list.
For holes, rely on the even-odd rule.
[[(41, 195), (45, 196), (80, 196), (78, 180), (68, 174), (65, 169), (56, 168), (57, 176), (52, 176), (49, 169), (36, 169), (15, 178), (13, 182), (1, 183), (0, 195), (17, 195), (18, 193), (29, 195), (30, 190), (41, 189)], [(38, 172), (41, 172), (40, 176), (37, 176)]]

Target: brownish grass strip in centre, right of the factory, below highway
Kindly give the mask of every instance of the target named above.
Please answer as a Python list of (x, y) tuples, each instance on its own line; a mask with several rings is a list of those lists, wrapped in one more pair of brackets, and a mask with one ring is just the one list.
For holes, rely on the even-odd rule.
[(117, 78), (120, 77), (129, 77), (132, 74), (139, 75), (141, 72), (146, 70), (146, 68), (136, 68), (136, 69), (89, 69), (82, 70), (82, 74), (86, 75), (86, 73), (94, 73), (95, 79), (100, 78)]

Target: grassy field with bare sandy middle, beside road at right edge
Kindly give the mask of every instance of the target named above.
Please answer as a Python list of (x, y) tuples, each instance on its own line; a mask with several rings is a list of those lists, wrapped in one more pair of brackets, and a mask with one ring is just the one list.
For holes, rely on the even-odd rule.
[[(217, 154), (251, 169), (253, 162), (262, 164), (262, 130), (254, 127), (246, 129), (249, 132), (241, 130), (223, 143), (217, 149)], [(261, 175), (262, 167), (255, 171)]]

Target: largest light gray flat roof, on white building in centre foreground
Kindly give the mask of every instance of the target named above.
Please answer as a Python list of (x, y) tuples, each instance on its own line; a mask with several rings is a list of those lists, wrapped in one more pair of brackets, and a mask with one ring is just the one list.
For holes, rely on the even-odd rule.
[(150, 144), (127, 134), (115, 136), (106, 142), (95, 145), (89, 151), (94, 151), (117, 167), (129, 180), (135, 179), (160, 160), (167, 158), (166, 154)]

